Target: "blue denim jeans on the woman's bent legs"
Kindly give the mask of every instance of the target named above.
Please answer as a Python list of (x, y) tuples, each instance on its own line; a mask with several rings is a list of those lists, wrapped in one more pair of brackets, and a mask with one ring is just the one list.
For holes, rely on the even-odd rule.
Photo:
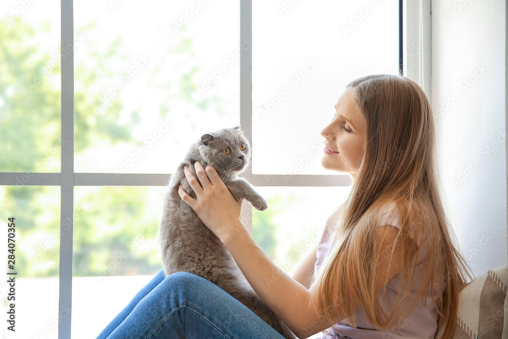
[(98, 339), (283, 338), (230, 294), (200, 276), (161, 270)]

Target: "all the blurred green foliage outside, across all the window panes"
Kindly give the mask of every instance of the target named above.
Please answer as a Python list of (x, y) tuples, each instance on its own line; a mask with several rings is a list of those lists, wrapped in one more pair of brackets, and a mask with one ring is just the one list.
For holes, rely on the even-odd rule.
[[(92, 22), (77, 34), (94, 27)], [(60, 149), (67, 144), (60, 141), (60, 53), (43, 51), (36, 43), (48, 35), (47, 25), (36, 29), (21, 19), (12, 26), (0, 25), (0, 171), (20, 172), (19, 185), (3, 190), (3, 208), (17, 218), (16, 268), (23, 277), (58, 275), (60, 226), (65, 229), (70, 225), (59, 220), (58, 187), (29, 186), (29, 179), (23, 179), (31, 172), (59, 172)], [(140, 109), (124, 112), (126, 108), (117, 97), (100, 102), (104, 88), (118, 77), (118, 69), (110, 67), (111, 59), (120, 63), (127, 58), (123, 40), (119, 36), (105, 51), (94, 46), (90, 40), (74, 46), (76, 53), (84, 53), (80, 57), (93, 65), (77, 63), (74, 70), (77, 155), (92, 146), (140, 142), (131, 134), (131, 125), (140, 120)], [(178, 77), (173, 74), (172, 80), (148, 84), (167, 90), (168, 101), (161, 105), (160, 115), (168, 114), (171, 100), (223, 112), (216, 97), (192, 98), (199, 71), (197, 66), (188, 66), (188, 59), (195, 56), (192, 39), (181, 38), (168, 53), (181, 60)], [(119, 124), (124, 113), (131, 121)], [(187, 112), (181, 114), (188, 117), (189, 124), (196, 121)], [(73, 215), (73, 275), (153, 274), (160, 270), (156, 237), (161, 210), (153, 206), (162, 196), (154, 196), (157, 192), (143, 187), (76, 188), (75, 194), (80, 195), (75, 198)], [(273, 212), (269, 209), (255, 215), (256, 239), (273, 257)]]

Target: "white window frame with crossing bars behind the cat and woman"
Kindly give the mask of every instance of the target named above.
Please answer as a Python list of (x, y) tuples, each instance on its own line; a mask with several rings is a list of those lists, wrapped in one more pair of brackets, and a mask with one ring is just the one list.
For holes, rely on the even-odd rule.
[[(61, 46), (73, 46), (73, 0), (61, 0)], [(403, 35), (399, 41), (399, 70), (417, 81), (430, 98), (430, 0), (399, 0), (399, 28)], [(402, 17), (402, 19), (401, 19)], [(240, 41), (252, 38), (252, 0), (240, 0)], [(417, 46), (417, 48), (407, 48)], [(399, 46), (400, 48), (400, 46)], [(63, 49), (63, 48), (62, 48)], [(63, 52), (63, 51), (62, 51)], [(74, 172), (74, 55), (66, 53), (61, 59), (61, 170), (59, 173), (29, 173), (30, 186), (60, 186), (60, 220), (72, 220), (74, 212), (74, 187), (76, 186), (166, 186), (170, 174), (115, 174)], [(252, 51), (240, 56), (240, 125), (252, 145)], [(256, 145), (252, 145), (256, 147)], [(0, 185), (15, 186), (27, 173), (0, 173)], [(349, 175), (297, 174), (292, 180), (285, 175), (252, 174), (250, 167), (242, 174), (255, 186), (282, 187), (347, 187)], [(242, 209), (242, 220), (251, 228), (251, 208)], [(65, 227), (65, 228), (64, 228)], [(73, 222), (60, 223), (59, 248), (59, 301), (58, 338), (71, 337)]]

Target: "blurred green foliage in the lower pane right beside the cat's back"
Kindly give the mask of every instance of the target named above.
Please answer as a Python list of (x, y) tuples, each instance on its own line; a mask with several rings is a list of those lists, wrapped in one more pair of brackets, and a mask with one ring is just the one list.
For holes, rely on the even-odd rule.
[[(76, 222), (74, 275), (152, 274), (161, 269), (156, 241), (159, 214), (146, 215), (146, 187), (90, 190), (80, 204), (88, 206)], [(145, 203), (143, 203), (145, 202)]]

